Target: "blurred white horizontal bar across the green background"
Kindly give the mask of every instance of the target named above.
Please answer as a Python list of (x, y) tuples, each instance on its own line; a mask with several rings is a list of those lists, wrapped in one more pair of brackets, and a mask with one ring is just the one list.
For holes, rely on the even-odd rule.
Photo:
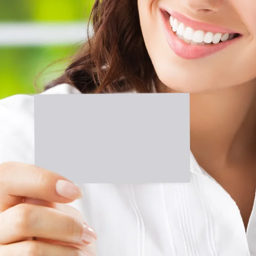
[[(89, 32), (92, 31), (90, 26)], [(69, 45), (87, 39), (82, 23), (0, 23), (0, 47)]]

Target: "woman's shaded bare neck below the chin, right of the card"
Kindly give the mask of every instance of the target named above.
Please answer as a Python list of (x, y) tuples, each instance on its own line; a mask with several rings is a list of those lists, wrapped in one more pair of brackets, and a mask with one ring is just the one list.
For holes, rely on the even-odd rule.
[(256, 82), (191, 93), (190, 147), (204, 169), (255, 163)]

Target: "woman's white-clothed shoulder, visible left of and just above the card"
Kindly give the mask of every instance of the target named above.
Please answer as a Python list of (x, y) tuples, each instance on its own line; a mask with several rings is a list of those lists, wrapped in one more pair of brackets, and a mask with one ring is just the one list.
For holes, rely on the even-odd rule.
[[(79, 94), (60, 84), (41, 94)], [(14, 95), (0, 100), (0, 163), (34, 163), (34, 97)]]

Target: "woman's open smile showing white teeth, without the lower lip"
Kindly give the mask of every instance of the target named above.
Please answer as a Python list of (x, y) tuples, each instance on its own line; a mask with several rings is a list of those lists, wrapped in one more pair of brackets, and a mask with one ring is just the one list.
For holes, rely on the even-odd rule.
[[(161, 10), (166, 20), (169, 20), (170, 26), (177, 38), (191, 45), (211, 45), (222, 44), (225, 41), (230, 41), (242, 35), (235, 32), (230, 32), (225, 29), (213, 28), (212, 25), (207, 25), (198, 22), (189, 22), (188, 19), (182, 17), (174, 17), (166, 10)], [(178, 16), (178, 15), (177, 15)], [(180, 20), (184, 20), (183, 22)], [(189, 26), (189, 24), (191, 24)], [(199, 25), (198, 25), (199, 24)], [(200, 27), (200, 29), (196, 29)], [(209, 27), (209, 29), (208, 29)], [(216, 31), (217, 30), (217, 31)]]

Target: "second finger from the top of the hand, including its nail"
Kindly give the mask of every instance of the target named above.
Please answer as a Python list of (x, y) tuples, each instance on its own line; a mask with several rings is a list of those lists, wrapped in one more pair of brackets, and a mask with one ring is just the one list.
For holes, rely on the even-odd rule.
[(41, 205), (18, 204), (0, 215), (0, 244), (30, 237), (87, 245), (96, 239), (82, 218)]

